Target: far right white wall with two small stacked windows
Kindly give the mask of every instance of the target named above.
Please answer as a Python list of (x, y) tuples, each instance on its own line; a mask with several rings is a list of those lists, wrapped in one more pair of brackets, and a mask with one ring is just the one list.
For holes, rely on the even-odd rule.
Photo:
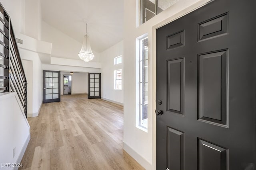
[(123, 41), (110, 47), (100, 53), (101, 61), (101, 97), (106, 100), (124, 103), (124, 83), (122, 82), (122, 90), (114, 90), (114, 70), (122, 69), (122, 80), (124, 78), (123, 61), (120, 64), (114, 64), (114, 58), (122, 56), (123, 59)]

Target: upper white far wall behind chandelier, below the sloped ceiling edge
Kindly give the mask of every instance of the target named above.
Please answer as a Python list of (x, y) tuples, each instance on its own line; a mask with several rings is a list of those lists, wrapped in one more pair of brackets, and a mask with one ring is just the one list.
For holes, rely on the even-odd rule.
[[(82, 43), (62, 33), (48, 23), (42, 21), (42, 41), (52, 43), (52, 57), (70, 58), (80, 60), (78, 53), (81, 50)], [(94, 59), (99, 62), (99, 54), (93, 51)]]

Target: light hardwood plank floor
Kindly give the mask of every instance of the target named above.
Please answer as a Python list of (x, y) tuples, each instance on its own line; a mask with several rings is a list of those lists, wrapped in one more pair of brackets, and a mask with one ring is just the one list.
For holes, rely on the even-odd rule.
[(101, 99), (49, 103), (28, 121), (20, 169), (144, 170), (122, 150), (122, 106)]

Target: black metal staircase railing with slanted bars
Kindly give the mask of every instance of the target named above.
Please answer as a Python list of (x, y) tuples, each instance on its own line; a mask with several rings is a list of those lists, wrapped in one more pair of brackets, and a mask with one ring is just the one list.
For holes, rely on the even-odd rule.
[(27, 80), (10, 16), (0, 3), (0, 92), (16, 92), (27, 117)]

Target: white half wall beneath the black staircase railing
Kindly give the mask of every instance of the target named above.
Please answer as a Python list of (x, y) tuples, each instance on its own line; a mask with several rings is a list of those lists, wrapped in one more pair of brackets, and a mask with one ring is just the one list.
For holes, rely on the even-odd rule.
[(3, 168), (4, 163), (20, 163), (30, 140), (30, 126), (18, 102), (16, 92), (0, 94), (0, 169), (3, 170), (13, 169)]

